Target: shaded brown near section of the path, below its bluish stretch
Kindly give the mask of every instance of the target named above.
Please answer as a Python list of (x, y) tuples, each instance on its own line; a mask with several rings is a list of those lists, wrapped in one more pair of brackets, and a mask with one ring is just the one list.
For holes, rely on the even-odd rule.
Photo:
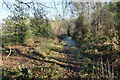
[(74, 51), (71, 51), (70, 47), (65, 48), (64, 53), (67, 54), (67, 58), (64, 61), (68, 64), (69, 77), (80, 78), (81, 61), (77, 59)]

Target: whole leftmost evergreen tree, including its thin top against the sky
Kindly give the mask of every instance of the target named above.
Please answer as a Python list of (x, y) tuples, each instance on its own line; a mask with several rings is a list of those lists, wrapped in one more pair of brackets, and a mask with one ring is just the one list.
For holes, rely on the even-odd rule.
[[(27, 31), (27, 13), (20, 3), (15, 3), (14, 16), (8, 17), (4, 23), (3, 36), (8, 42), (24, 43), (25, 32)], [(4, 37), (3, 37), (4, 38)], [(3, 39), (4, 41), (4, 39)], [(6, 42), (5, 42), (6, 43)]]

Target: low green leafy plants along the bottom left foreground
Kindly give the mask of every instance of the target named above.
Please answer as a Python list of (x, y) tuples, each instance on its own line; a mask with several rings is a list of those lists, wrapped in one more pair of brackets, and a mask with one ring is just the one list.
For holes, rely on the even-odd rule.
[(51, 67), (22, 67), (19, 66), (19, 69), (15, 70), (13, 68), (5, 68), (3, 70), (2, 79), (12, 79), (12, 80), (24, 80), (24, 79), (58, 79), (63, 78), (64, 74), (61, 73), (61, 68), (58, 68), (57, 65), (52, 65)]

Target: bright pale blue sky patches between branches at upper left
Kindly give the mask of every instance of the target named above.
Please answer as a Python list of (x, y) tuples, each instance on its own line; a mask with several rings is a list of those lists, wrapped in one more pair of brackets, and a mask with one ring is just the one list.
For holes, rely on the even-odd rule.
[[(12, 5), (15, 0), (5, 0), (5, 2), (9, 5)], [(23, 0), (24, 2), (30, 2), (32, 0)], [(33, 0), (33, 1), (39, 1), (41, 3), (44, 3), (47, 6), (54, 7), (53, 1), (52, 0)], [(54, 0), (56, 1), (56, 0)], [(59, 0), (60, 1), (60, 0)], [(61, 13), (61, 6), (57, 6), (59, 9), (59, 12)], [(53, 15), (56, 15), (56, 9), (55, 8), (46, 8), (48, 11), (48, 17), (51, 17)], [(6, 7), (5, 4), (3, 4), (3, 0), (0, 0), (0, 23), (2, 22), (3, 19), (5, 19), (8, 15), (12, 15), (12, 13), (9, 11), (9, 9)]]

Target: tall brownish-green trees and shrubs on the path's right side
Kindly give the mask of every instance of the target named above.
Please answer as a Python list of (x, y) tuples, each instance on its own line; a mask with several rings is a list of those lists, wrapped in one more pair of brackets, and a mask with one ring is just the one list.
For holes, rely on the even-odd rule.
[[(89, 13), (89, 11), (81, 9), (81, 12), (79, 12), (78, 18), (75, 23), (73, 38), (76, 41), (80, 42), (81, 40), (83, 40), (86, 42), (97, 42), (103, 44), (107, 40), (119, 36), (119, 16), (117, 15), (119, 14), (119, 9), (117, 4), (119, 5), (119, 2), (98, 2), (93, 5), (94, 8), (91, 15), (87, 14), (87, 12)], [(85, 5), (82, 7), (88, 8), (88, 6)], [(114, 9), (116, 9), (117, 11), (115, 11)], [(84, 11), (86, 13), (84, 13)], [(92, 18), (92, 20), (88, 18), (89, 16)]]

